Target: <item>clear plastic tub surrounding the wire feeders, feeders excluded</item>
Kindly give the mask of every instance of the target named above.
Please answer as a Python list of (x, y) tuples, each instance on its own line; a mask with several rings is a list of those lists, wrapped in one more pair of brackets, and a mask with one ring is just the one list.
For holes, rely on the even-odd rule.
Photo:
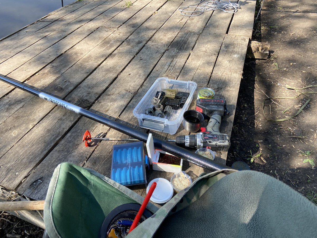
[[(146, 92), (138, 105), (134, 108), (133, 115), (138, 118), (140, 127), (162, 131), (173, 135), (176, 133), (183, 120), (184, 112), (187, 111), (189, 105), (191, 104), (196, 88), (197, 84), (193, 81), (181, 81), (166, 77), (158, 78)], [(189, 93), (189, 96), (183, 108), (179, 108), (178, 110), (173, 109), (170, 116), (166, 118), (146, 115), (146, 109), (153, 107), (151, 103), (153, 96), (156, 95), (157, 91), (162, 89), (178, 89), (179, 92)]]

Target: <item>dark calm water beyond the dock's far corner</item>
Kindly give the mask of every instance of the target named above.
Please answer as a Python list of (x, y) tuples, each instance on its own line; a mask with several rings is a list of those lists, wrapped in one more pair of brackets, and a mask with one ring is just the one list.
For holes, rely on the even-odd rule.
[[(64, 6), (74, 0), (63, 0)], [(59, 9), (61, 0), (0, 0), (0, 39)]]

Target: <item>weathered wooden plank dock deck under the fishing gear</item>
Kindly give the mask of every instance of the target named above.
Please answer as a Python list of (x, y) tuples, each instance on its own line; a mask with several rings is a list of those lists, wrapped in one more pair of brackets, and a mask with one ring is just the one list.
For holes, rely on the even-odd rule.
[[(28, 83), (97, 114), (165, 139), (175, 135), (139, 127), (133, 109), (159, 77), (194, 81), (224, 97), (230, 114), (222, 132), (231, 134), (244, 58), (252, 34), (255, 0), (239, 0), (235, 14), (178, 11), (193, 0), (83, 0), (41, 18), (0, 40), (0, 74)], [(195, 109), (195, 99), (190, 109)], [(93, 136), (127, 136), (0, 82), (0, 185), (44, 200), (61, 162), (94, 169), (110, 177), (112, 146)], [(217, 152), (225, 164), (227, 153)], [(192, 179), (204, 172), (184, 161)], [(207, 171), (208, 172), (208, 171)], [(172, 173), (148, 171), (147, 181)], [(144, 189), (136, 189), (145, 196)], [(26, 215), (27, 216), (27, 215)], [(41, 223), (42, 226), (42, 223)]]

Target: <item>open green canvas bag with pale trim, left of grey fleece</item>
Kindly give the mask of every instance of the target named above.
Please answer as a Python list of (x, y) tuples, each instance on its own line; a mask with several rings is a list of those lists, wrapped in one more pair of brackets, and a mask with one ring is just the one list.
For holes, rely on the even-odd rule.
[[(126, 203), (144, 198), (129, 188), (71, 163), (55, 169), (44, 202), (44, 224), (50, 238), (99, 237), (105, 217)], [(149, 203), (152, 213), (159, 208)]]

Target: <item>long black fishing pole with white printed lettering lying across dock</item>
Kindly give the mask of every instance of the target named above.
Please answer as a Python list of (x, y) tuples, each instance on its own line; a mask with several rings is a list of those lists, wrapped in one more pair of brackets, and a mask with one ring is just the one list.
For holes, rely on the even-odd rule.
[[(22, 89), (23, 91), (26, 91), (26, 92), (29, 92), (30, 94), (38, 96), (46, 101), (52, 102), (58, 106), (61, 106), (65, 109), (73, 111), (74, 113), (77, 113), (81, 116), (85, 116), (85, 117), (87, 117), (95, 122), (99, 122), (101, 124), (104, 124), (112, 129), (120, 131), (121, 133), (124, 133), (124, 134), (131, 136), (133, 138), (136, 138), (140, 141), (143, 141), (143, 142), (147, 141), (148, 134), (146, 134), (140, 130), (134, 129), (132, 127), (126, 126), (126, 125), (121, 124), (119, 122), (110, 120), (106, 117), (100, 116), (96, 113), (93, 113), (91, 111), (88, 111), (86, 109), (78, 107), (78, 106), (71, 104), (69, 102), (66, 102), (64, 100), (61, 100), (60, 98), (57, 98), (55, 96), (51, 96), (47, 93), (43, 93), (43, 92), (33, 88), (32, 86), (21, 83), (19, 81), (16, 81), (15, 79), (6, 77), (6, 76), (1, 75), (1, 74), (0, 74), (0, 80), (18, 88), (18, 89)], [(206, 157), (195, 154), (187, 149), (184, 149), (184, 148), (179, 147), (177, 145), (168, 143), (168, 142), (161, 140), (161, 139), (158, 139), (156, 137), (153, 137), (153, 142), (154, 142), (154, 147), (161, 149), (161, 150), (164, 150), (166, 152), (169, 152), (172, 155), (183, 158), (184, 160), (187, 160), (193, 164), (196, 164), (204, 169), (208, 169), (210, 171), (216, 171), (216, 170), (220, 170), (220, 169), (231, 169), (230, 167), (225, 166), (219, 162), (212, 161)]]

